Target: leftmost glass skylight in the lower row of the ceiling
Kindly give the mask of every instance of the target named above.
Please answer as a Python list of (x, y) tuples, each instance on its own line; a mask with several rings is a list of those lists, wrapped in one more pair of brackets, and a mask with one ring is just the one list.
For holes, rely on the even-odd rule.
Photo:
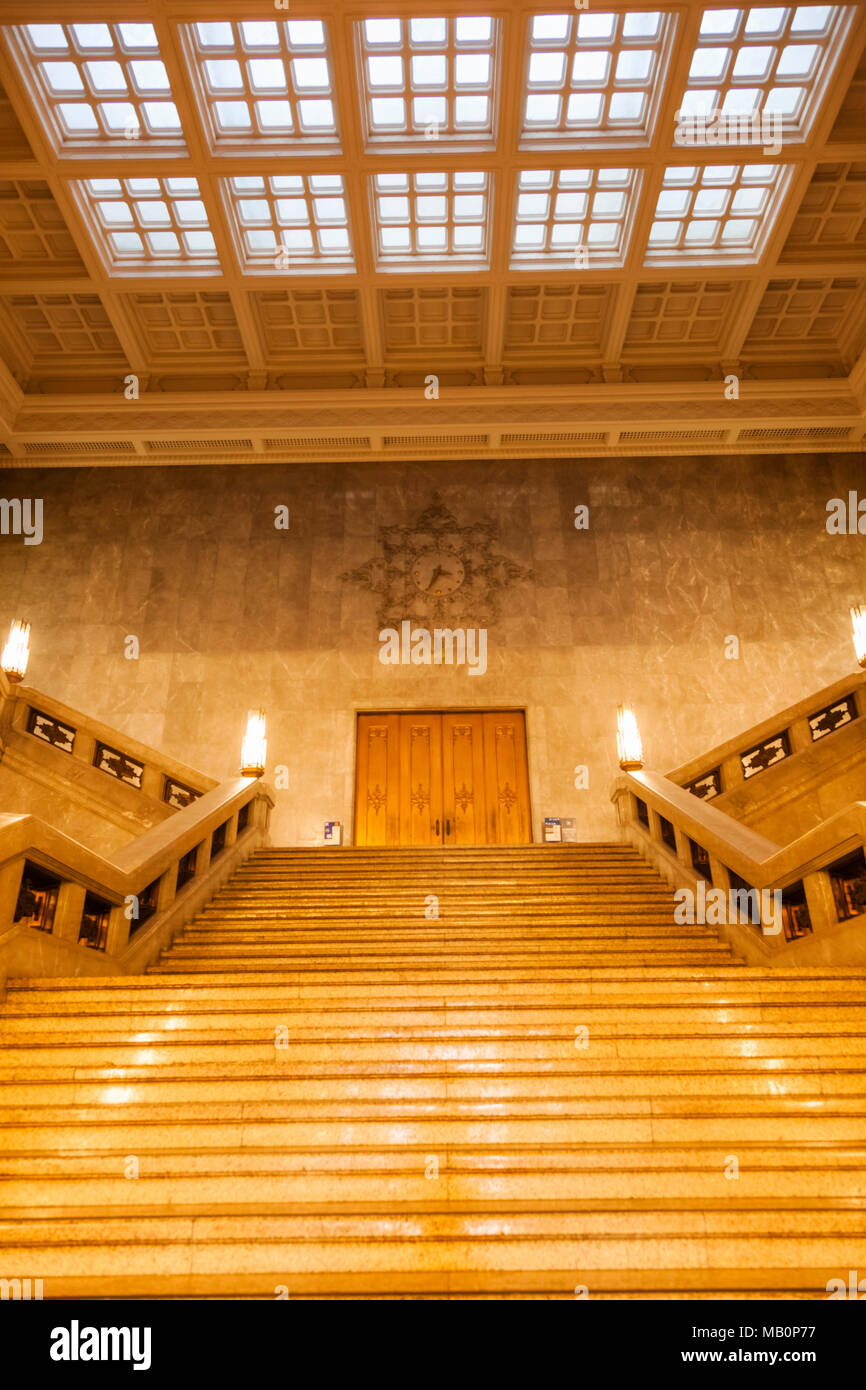
[(218, 267), (197, 179), (90, 178), (72, 188), (113, 270)]

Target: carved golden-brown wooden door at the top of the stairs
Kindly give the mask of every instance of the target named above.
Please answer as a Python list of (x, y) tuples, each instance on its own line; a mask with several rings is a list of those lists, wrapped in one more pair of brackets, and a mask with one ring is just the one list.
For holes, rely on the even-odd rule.
[(356, 845), (531, 838), (521, 710), (359, 714)]

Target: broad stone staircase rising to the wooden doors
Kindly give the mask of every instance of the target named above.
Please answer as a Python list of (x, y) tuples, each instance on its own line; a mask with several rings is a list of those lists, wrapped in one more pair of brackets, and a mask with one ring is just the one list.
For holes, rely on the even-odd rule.
[(866, 970), (742, 966), (623, 845), (260, 851), (147, 976), (11, 983), (0, 1275), (826, 1297), (865, 1024)]

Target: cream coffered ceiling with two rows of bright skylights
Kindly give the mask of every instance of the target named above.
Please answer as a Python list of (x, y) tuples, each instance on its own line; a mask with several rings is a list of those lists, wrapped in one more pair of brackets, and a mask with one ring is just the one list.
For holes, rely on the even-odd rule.
[(0, 36), (8, 466), (863, 448), (863, 4)]

